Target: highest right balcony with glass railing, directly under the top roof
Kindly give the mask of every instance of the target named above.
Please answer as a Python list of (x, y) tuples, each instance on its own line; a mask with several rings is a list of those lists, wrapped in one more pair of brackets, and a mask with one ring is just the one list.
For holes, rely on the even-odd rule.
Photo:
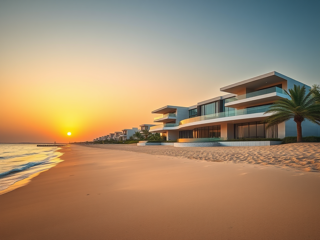
[(288, 94), (279, 87), (270, 87), (255, 92), (246, 93), (233, 98), (226, 99), (225, 107), (239, 108), (252, 104), (263, 104), (264, 102), (276, 101), (279, 98), (286, 98)]

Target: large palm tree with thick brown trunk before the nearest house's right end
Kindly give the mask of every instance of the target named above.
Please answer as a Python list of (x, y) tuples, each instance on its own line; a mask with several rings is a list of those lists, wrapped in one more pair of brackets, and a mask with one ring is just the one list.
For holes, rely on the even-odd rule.
[(293, 118), (297, 124), (297, 142), (302, 142), (301, 123), (305, 119), (320, 125), (320, 97), (314, 91), (311, 90), (306, 94), (306, 87), (297, 85), (294, 85), (293, 89), (289, 89), (289, 93), (286, 91), (291, 99), (280, 98), (276, 100), (264, 113), (272, 114), (263, 120), (268, 124), (266, 128)]

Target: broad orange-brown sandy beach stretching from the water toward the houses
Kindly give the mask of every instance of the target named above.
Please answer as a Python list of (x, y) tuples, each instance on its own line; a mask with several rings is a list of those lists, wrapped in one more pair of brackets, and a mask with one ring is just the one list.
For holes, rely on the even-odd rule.
[[(286, 159), (317, 161), (308, 155), (317, 145), (307, 153), (300, 151), (306, 144), (292, 146)], [(234, 151), (228, 147), (217, 153), (223, 162), (183, 158), (183, 151), (203, 156), (218, 148), (155, 147), (134, 148), (149, 154), (64, 147), (64, 162), (0, 195), (1, 240), (319, 239), (319, 172), (235, 164), (219, 158)]]

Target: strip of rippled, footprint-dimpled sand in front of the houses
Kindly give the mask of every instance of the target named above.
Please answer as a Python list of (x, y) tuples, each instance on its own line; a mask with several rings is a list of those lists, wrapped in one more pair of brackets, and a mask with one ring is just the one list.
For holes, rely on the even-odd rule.
[(84, 145), (92, 148), (165, 155), (212, 162), (231, 161), (291, 167), (308, 172), (320, 172), (320, 143), (291, 143), (258, 147), (190, 147), (137, 146), (136, 144)]

